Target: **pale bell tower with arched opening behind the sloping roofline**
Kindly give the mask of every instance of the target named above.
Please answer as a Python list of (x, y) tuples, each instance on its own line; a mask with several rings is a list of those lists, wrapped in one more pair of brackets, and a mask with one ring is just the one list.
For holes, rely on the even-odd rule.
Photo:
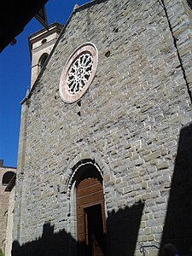
[(49, 26), (49, 31), (44, 28), (29, 36), (28, 42), (32, 61), (31, 88), (38, 78), (42, 67), (44, 67), (44, 62), (49, 56), (51, 49), (53, 49), (62, 27), (61, 24), (55, 22)]

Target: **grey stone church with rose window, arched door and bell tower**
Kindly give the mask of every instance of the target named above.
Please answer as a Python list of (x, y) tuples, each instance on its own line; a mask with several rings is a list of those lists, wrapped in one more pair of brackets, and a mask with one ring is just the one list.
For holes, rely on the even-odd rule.
[(12, 255), (192, 254), (191, 18), (97, 0), (29, 38)]

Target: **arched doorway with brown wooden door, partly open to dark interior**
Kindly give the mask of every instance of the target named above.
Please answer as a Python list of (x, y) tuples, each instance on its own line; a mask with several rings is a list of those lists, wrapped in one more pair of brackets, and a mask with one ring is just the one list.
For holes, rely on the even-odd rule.
[(81, 167), (76, 183), (79, 256), (106, 255), (106, 219), (102, 177), (96, 166)]

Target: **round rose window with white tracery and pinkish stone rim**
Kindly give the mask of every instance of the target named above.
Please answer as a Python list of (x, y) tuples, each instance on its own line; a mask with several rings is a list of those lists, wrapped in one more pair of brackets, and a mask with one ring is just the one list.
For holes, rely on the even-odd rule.
[(60, 95), (64, 102), (79, 100), (96, 73), (98, 52), (95, 44), (85, 43), (75, 49), (61, 73)]

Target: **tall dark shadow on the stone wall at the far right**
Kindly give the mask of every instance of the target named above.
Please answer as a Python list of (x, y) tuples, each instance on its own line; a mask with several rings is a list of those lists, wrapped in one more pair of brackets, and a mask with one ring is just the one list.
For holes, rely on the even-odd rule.
[(180, 132), (161, 248), (167, 242), (192, 255), (192, 125)]

